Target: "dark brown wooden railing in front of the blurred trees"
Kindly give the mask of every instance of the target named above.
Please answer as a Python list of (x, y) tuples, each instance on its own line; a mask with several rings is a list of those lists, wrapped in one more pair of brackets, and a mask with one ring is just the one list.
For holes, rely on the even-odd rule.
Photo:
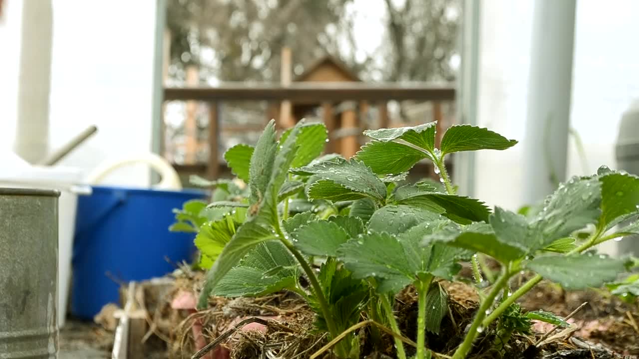
[[(201, 101), (210, 104), (210, 119), (208, 128), (208, 164), (180, 165), (174, 164), (178, 172), (192, 172), (204, 174), (208, 178), (217, 178), (220, 164), (218, 144), (220, 129), (220, 113), (218, 103), (227, 101), (268, 101), (280, 103), (290, 101), (294, 104), (317, 104), (324, 107), (325, 116), (333, 116), (334, 104), (344, 102), (366, 102), (378, 105), (380, 109), (380, 127), (389, 126), (387, 103), (389, 101), (414, 100), (418, 102), (433, 102), (433, 117), (442, 118), (440, 103), (455, 100), (455, 89), (450, 85), (433, 85), (428, 83), (384, 83), (366, 84), (362, 82), (298, 82), (290, 86), (280, 84), (223, 84), (215, 88), (165, 88), (164, 102), (167, 101)], [(265, 114), (266, 118), (266, 114)], [(329, 132), (336, 132), (337, 128), (329, 125), (325, 118)], [(344, 121), (343, 121), (344, 122)], [(345, 126), (343, 126), (345, 127)], [(164, 127), (163, 127), (164, 128)], [(353, 126), (357, 128), (357, 126)], [(241, 130), (240, 127), (237, 128)], [(225, 131), (227, 132), (227, 131)], [(344, 129), (342, 129), (344, 132)], [(348, 132), (348, 130), (346, 130)]]

